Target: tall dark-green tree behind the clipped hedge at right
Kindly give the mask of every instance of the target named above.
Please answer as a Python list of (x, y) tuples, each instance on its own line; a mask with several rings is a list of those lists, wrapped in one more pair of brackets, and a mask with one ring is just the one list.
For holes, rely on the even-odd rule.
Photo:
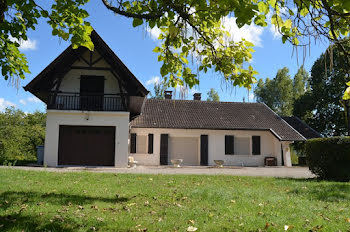
[[(349, 42), (345, 48), (350, 51)], [(326, 136), (347, 132), (344, 106), (340, 102), (346, 89), (344, 83), (350, 81), (344, 56), (346, 54), (338, 47), (333, 48), (333, 59), (322, 54), (312, 66), (310, 90), (294, 104), (294, 114)], [(327, 64), (331, 61), (330, 67)]]

